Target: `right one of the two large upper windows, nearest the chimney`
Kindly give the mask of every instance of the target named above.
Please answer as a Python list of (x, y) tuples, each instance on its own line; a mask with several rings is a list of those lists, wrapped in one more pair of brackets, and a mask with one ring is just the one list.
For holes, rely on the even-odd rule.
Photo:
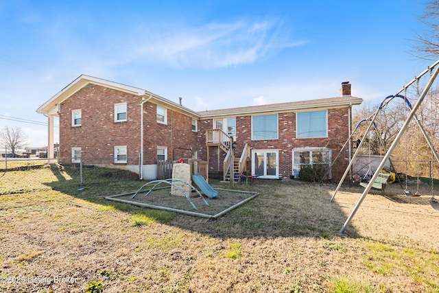
[(328, 137), (328, 111), (299, 112), (297, 117), (297, 138), (311, 139)]

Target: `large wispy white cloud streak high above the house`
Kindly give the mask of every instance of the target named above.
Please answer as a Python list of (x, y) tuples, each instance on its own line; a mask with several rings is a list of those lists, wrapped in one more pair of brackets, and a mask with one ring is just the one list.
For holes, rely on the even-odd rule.
[(177, 68), (217, 68), (248, 64), (270, 51), (303, 45), (292, 41), (281, 21), (208, 23), (202, 27), (148, 30), (137, 56)]

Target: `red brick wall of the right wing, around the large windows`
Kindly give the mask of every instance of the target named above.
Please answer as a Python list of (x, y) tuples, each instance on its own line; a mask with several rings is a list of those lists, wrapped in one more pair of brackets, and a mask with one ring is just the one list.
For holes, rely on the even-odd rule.
[[(251, 116), (239, 116), (236, 119), (237, 126), (237, 148), (236, 156), (241, 156), (241, 152), (246, 143), (249, 143), (252, 149), (261, 150), (278, 150), (279, 153), (279, 175), (282, 177), (289, 177), (292, 174), (292, 150), (293, 148), (331, 148), (332, 158), (340, 152), (342, 145), (348, 139), (348, 111), (349, 108), (336, 108), (328, 110), (328, 137), (322, 139), (296, 139), (296, 113), (279, 113), (278, 114), (278, 139), (252, 141)], [(204, 144), (204, 149), (199, 151), (200, 159), (207, 160), (205, 151), (205, 132), (207, 129), (212, 129), (212, 119), (203, 119), (199, 123), (200, 133), (198, 140), (200, 148)], [(218, 156), (216, 147), (211, 147), (209, 150), (209, 167), (214, 170), (222, 169), (222, 162), (224, 160), (225, 152), (221, 151)], [(348, 158), (348, 150), (337, 160), (333, 166), (333, 178), (340, 178), (346, 169)]]

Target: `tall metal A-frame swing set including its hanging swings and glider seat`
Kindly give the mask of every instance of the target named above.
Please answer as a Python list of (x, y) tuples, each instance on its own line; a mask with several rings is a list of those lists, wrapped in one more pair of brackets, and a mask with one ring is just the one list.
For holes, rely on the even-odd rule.
[[(402, 99), (404, 99), (405, 101), (405, 105), (407, 106), (407, 109), (410, 110), (410, 113), (407, 115), (407, 118), (405, 119), (403, 125), (401, 126), (398, 134), (396, 135), (392, 145), (390, 145), (390, 148), (388, 148), (388, 150), (385, 150), (384, 148), (384, 144), (383, 141), (381, 140), (381, 135), (378, 135), (381, 146), (384, 148), (385, 150), (385, 154), (383, 156), (383, 158), (381, 159), (381, 162), (379, 163), (378, 167), (377, 167), (377, 171), (373, 174), (372, 178), (370, 178), (369, 182), (366, 184), (363, 184), (362, 186), (365, 187), (363, 194), (361, 194), (361, 197), (359, 198), (357, 204), (355, 205), (353, 211), (351, 212), (351, 214), (348, 216), (348, 219), (346, 220), (346, 222), (344, 223), (344, 226), (342, 227), (342, 229), (340, 230), (340, 233), (344, 233), (346, 227), (348, 226), (349, 222), (351, 222), (352, 218), (354, 217), (355, 213), (357, 212), (357, 210), (359, 209), (361, 202), (363, 202), (364, 198), (366, 198), (366, 195), (368, 194), (368, 192), (370, 191), (370, 189), (372, 189), (372, 187), (379, 187), (381, 184), (381, 190), (383, 190), (382, 185), (384, 183), (384, 176), (383, 173), (381, 173), (381, 170), (383, 169), (383, 167), (385, 167), (385, 163), (387, 161), (390, 161), (390, 165), (392, 166), (392, 168), (394, 169), (394, 166), (392, 164), (392, 161), (390, 160), (390, 156), (392, 154), (392, 152), (394, 151), (394, 149), (396, 148), (396, 145), (399, 143), (399, 141), (401, 140), (401, 137), (403, 136), (404, 132), (407, 130), (410, 122), (412, 121), (412, 119), (414, 119), (414, 121), (416, 122), (416, 124), (418, 125), (418, 128), (420, 130), (420, 132), (423, 134), (423, 136), (425, 137), (425, 140), (427, 141), (429, 148), (434, 156), (434, 158), (436, 159), (436, 161), (438, 161), (439, 163), (439, 156), (438, 153), (436, 152), (436, 149), (434, 148), (433, 143), (431, 143), (431, 140), (429, 139), (429, 136), (427, 134), (427, 132), (425, 131), (425, 129), (423, 128), (420, 120), (418, 119), (416, 112), (418, 111), (418, 109), (420, 108), (421, 104), (423, 103), (423, 100), (425, 98), (425, 96), (427, 95), (429, 89), (431, 88), (431, 85), (434, 83), (434, 80), (436, 79), (436, 77), (439, 74), (439, 67), (437, 67), (437, 65), (439, 65), (439, 60), (437, 60), (436, 62), (434, 62), (433, 65), (427, 67), (427, 69), (425, 69), (425, 71), (423, 71), (422, 73), (420, 73), (420, 75), (416, 76), (416, 78), (414, 78), (412, 81), (410, 81), (409, 83), (407, 83), (405, 86), (403, 86), (403, 88), (401, 90), (399, 90), (395, 95), (389, 95), (388, 97), (385, 97), (383, 99), (383, 101), (381, 102), (381, 104), (379, 105), (379, 107), (377, 108), (377, 110), (375, 110), (374, 113), (372, 113), (372, 115), (370, 115), (370, 117), (368, 117), (368, 119), (364, 119), (361, 120), (359, 122), (359, 124), (357, 124), (357, 127), (353, 130), (352, 134), (350, 135), (350, 137), (348, 138), (348, 140), (346, 141), (346, 143), (344, 143), (342, 150), (340, 150), (340, 153), (335, 157), (333, 163), (338, 159), (338, 157), (340, 156), (340, 154), (342, 153), (343, 149), (345, 148), (346, 145), (348, 145), (348, 143), (351, 142), (351, 139), (355, 133), (355, 131), (358, 129), (359, 125), (361, 123), (363, 123), (364, 121), (369, 121), (368, 127), (366, 129), (366, 132), (364, 132), (363, 137), (361, 138), (361, 140), (359, 141), (358, 145), (357, 145), (357, 150), (355, 151), (355, 153), (353, 154), (352, 159), (349, 161), (348, 166), (346, 167), (346, 170), (340, 180), (340, 183), (337, 185), (337, 188), (334, 191), (333, 196), (331, 197), (331, 202), (333, 201), (333, 199), (335, 198), (335, 195), (337, 194), (337, 192), (340, 190), (340, 187), (342, 185), (342, 183), (344, 182), (344, 180), (346, 179), (346, 176), (348, 175), (348, 173), (351, 171), (351, 167), (353, 165), (353, 161), (355, 160), (355, 157), (358, 155), (359, 149), (361, 148), (361, 145), (364, 143), (364, 141), (366, 140), (366, 134), (368, 134), (368, 132), (370, 131), (370, 129), (372, 128), (372, 126), (375, 127), (376, 130), (376, 125), (375, 125), (375, 119), (377, 119), (377, 115), (381, 112), (381, 110), (383, 109), (384, 106), (388, 105), (390, 101), (392, 101), (392, 99), (394, 99), (394, 97), (401, 97)], [(435, 71), (433, 72), (433, 69), (436, 67)], [(416, 84), (418, 85), (418, 82), (420, 80), (420, 78), (423, 77), (423, 75), (425, 75), (426, 73), (430, 73), (430, 78), (427, 82), (427, 84), (425, 85), (425, 88), (423, 89), (422, 93), (420, 93), (418, 95), (418, 99), (416, 100), (416, 103), (414, 104), (414, 106), (412, 106), (409, 102), (409, 100), (407, 99), (407, 88), (409, 86), (411, 86), (412, 84), (414, 84), (416, 82)], [(405, 91), (405, 95), (400, 95), (403, 91)], [(332, 164), (333, 164), (332, 163)], [(415, 194), (412, 194), (408, 188), (407, 188), (407, 169), (408, 169), (408, 165), (406, 165), (406, 180), (405, 180), (405, 189), (404, 189), (404, 194), (406, 196), (409, 197), (418, 197), (420, 196), (420, 192), (419, 192), (419, 180), (417, 183), (417, 190)], [(395, 171), (395, 170), (394, 170)], [(395, 172), (395, 174), (397, 174), (397, 172)], [(417, 174), (418, 175), (418, 174)], [(399, 183), (402, 187), (401, 184), (401, 180), (399, 178), (399, 176), (396, 176), (396, 178), (398, 178)], [(388, 182), (388, 178), (385, 178), (385, 184), (387, 184)], [(433, 187), (433, 180), (431, 180), (431, 198), (429, 200), (429, 203), (431, 204), (431, 207), (437, 211), (439, 211), (439, 200), (437, 200), (434, 196), (434, 187)]]

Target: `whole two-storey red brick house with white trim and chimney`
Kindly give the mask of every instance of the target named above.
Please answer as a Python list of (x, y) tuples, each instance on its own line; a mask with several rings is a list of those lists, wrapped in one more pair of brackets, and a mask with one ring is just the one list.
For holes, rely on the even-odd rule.
[[(264, 106), (195, 112), (144, 89), (81, 75), (37, 109), (60, 120), (60, 158), (77, 163), (128, 169), (155, 179), (157, 161), (198, 158), (209, 172), (258, 174), (260, 178), (297, 176), (301, 165), (327, 165), (340, 178), (351, 152), (340, 152), (351, 133), (351, 96)], [(231, 148), (233, 145), (234, 148)], [(52, 154), (49, 150), (49, 154)], [(233, 159), (232, 159), (233, 158)]]

